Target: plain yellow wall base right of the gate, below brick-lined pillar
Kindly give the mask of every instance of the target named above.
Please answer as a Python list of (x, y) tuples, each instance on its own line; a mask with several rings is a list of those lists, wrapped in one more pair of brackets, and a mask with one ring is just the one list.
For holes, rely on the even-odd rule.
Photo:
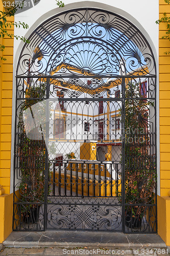
[(170, 197), (158, 196), (158, 234), (170, 246)]

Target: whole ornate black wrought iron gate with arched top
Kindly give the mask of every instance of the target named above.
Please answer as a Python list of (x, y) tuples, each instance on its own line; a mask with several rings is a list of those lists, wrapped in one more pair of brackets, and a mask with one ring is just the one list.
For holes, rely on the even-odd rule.
[(16, 75), (13, 230), (157, 232), (148, 42), (93, 8), (56, 15), (29, 39)]

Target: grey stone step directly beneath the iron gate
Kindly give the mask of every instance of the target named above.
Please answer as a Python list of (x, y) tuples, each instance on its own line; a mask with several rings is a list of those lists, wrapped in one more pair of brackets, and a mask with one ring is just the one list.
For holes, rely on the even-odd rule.
[(166, 248), (158, 234), (135, 234), (110, 231), (17, 231), (3, 242), (6, 247), (121, 247)]

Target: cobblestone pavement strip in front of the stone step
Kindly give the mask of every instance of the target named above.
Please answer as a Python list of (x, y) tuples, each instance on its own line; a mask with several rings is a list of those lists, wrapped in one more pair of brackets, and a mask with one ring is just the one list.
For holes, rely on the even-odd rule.
[(5, 248), (0, 255), (170, 255), (167, 248)]

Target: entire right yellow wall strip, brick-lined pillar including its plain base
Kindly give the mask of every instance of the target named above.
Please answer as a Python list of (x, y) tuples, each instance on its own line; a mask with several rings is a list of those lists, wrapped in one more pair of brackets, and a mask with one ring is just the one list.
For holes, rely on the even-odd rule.
[[(159, 0), (159, 18), (166, 12), (170, 16), (170, 5)], [(166, 24), (159, 25), (159, 111), (160, 111), (160, 196), (158, 196), (158, 234), (170, 246), (170, 41), (162, 39)]]

